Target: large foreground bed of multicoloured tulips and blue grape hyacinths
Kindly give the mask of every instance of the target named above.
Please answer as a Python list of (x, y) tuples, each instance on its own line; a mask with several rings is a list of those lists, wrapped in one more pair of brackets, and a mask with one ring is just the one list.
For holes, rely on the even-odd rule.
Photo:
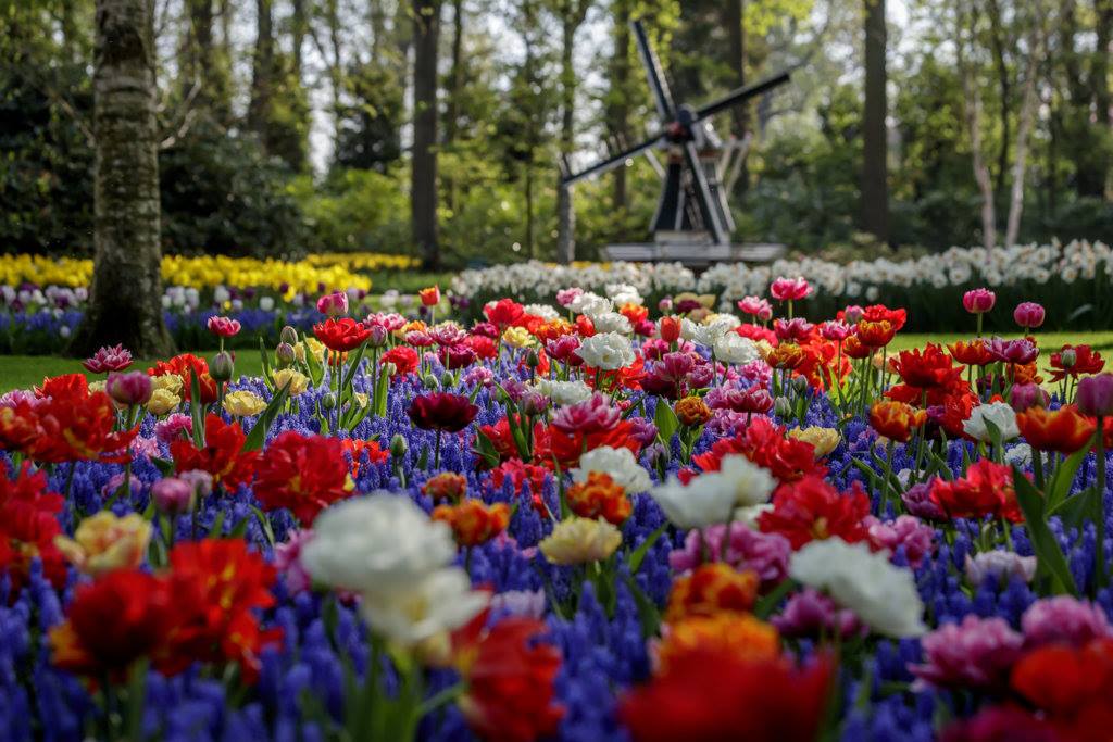
[(612, 288), (332, 294), (260, 378), (105, 348), (0, 397), (8, 739), (1105, 733), (1099, 354), (1034, 304), (983, 337), (984, 288), (899, 354), (905, 309), (804, 279)]

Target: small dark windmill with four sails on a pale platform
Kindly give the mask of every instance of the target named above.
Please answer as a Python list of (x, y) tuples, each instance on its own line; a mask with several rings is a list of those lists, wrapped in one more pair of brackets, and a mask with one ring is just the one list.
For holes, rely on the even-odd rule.
[[(649, 43), (641, 21), (631, 22), (638, 51), (649, 88), (657, 105), (660, 128), (641, 144), (592, 165), (579, 172), (571, 172), (568, 161), (562, 162), (561, 185), (591, 178), (624, 166), (627, 160), (651, 150), (666, 151), (661, 196), (653, 215), (652, 245), (617, 245), (608, 248), (617, 259), (681, 259), (702, 263), (721, 259), (769, 259), (782, 251), (782, 246), (732, 246), (730, 234), (735, 220), (727, 206), (727, 194), (720, 187), (720, 170), (726, 158), (723, 146), (711, 126), (711, 117), (756, 98), (788, 82), (788, 72), (781, 72), (750, 86), (738, 88), (719, 100), (695, 108), (677, 105), (661, 69), (661, 62)], [(755, 251), (755, 248), (758, 248)], [(778, 249), (779, 248), (779, 249)]]

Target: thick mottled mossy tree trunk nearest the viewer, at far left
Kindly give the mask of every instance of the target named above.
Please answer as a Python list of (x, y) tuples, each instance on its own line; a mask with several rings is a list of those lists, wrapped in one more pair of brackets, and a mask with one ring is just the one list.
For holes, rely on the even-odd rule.
[(93, 71), (96, 258), (89, 307), (70, 353), (122, 343), (173, 353), (162, 323), (155, 43), (148, 0), (97, 0)]

